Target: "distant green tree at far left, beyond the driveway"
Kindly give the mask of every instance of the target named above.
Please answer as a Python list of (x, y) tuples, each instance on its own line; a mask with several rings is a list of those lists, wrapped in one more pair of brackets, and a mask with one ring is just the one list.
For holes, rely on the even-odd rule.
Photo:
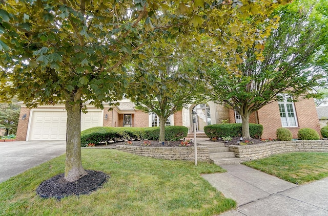
[(0, 103), (0, 128), (5, 129), (5, 136), (16, 134), (20, 106), (14, 103)]

